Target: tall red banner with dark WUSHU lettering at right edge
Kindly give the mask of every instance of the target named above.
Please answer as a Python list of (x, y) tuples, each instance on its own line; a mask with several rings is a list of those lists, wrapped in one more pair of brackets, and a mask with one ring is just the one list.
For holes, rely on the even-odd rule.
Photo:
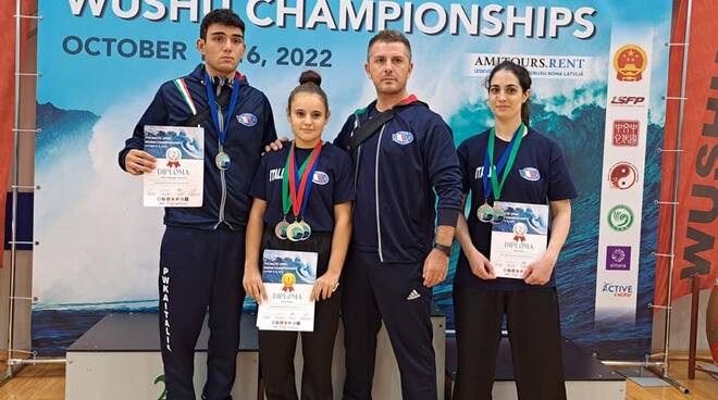
[[(683, 42), (686, 0), (681, 1), (673, 24), (672, 42)], [(718, 2), (694, 0), (690, 15), (688, 41), (688, 73), (682, 138), (678, 145), (679, 103), (668, 100), (665, 149), (680, 146), (680, 176), (676, 210), (674, 270), (672, 298), (690, 292), (690, 277), (701, 277), (701, 288), (711, 288), (718, 278)], [(679, 97), (683, 48), (673, 47), (670, 53), (668, 96)], [(672, 197), (676, 179), (676, 152), (664, 153), (661, 200)], [(669, 254), (671, 240), (671, 210), (661, 208), (658, 253)], [(669, 261), (658, 257), (656, 262), (656, 304), (665, 304), (668, 295)]]

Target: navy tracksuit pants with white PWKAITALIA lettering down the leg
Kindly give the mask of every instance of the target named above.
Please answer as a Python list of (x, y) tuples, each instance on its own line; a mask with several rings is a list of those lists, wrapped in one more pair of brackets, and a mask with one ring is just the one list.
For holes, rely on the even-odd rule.
[(245, 291), (245, 229), (168, 226), (160, 248), (160, 340), (168, 400), (194, 400), (195, 346), (209, 311), (202, 399), (232, 399)]

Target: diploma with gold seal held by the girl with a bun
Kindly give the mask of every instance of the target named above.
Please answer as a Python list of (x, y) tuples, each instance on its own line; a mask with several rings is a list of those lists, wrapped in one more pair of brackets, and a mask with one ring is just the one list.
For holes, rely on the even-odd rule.
[(257, 311), (259, 329), (314, 330), (314, 302), (309, 298), (318, 258), (315, 252), (264, 250), (262, 283), (268, 300)]

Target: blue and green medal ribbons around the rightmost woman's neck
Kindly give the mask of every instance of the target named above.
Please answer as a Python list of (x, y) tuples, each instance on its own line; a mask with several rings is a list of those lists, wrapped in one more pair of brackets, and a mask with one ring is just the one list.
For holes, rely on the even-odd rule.
[[(502, 189), (504, 188), (506, 178), (511, 171), (511, 166), (513, 166), (516, 154), (519, 152), (519, 147), (521, 146), (521, 140), (525, 135), (527, 127), (525, 125), (521, 124), (518, 129), (516, 129), (511, 142), (509, 142), (508, 148), (504, 150), (504, 154), (502, 154), (502, 159), (498, 161), (497, 165), (494, 165), (494, 142), (496, 139), (496, 134), (494, 130), (495, 128), (491, 128), (491, 132), (488, 133), (488, 146), (486, 147), (486, 155), (484, 157), (484, 171), (482, 174), (482, 182), (484, 185), (484, 201), (486, 202), (492, 195), (492, 189), (495, 193), (495, 201), (498, 201), (499, 197), (502, 196)], [(499, 184), (497, 175), (502, 173), (502, 182)], [(488, 175), (491, 175), (491, 186), (488, 185)]]

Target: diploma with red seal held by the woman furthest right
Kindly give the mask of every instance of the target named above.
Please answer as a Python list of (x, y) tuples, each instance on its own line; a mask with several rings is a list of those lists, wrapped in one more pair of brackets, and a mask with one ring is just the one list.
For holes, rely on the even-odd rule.
[(546, 251), (548, 205), (496, 201), (506, 218), (493, 225), (491, 263), (497, 277), (521, 279), (530, 263)]

